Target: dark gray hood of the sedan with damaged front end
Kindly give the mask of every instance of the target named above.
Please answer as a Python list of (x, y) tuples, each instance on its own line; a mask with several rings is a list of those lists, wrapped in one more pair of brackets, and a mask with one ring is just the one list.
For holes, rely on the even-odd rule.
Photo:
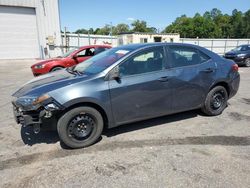
[(74, 75), (63, 69), (32, 79), (12, 96), (17, 98), (22, 96), (36, 97), (79, 81), (88, 80), (90, 77), (89, 75)]

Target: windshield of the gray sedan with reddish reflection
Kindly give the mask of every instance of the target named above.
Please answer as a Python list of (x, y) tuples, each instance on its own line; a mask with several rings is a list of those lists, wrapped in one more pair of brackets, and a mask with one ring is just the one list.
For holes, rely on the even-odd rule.
[(115, 63), (131, 51), (132, 49), (128, 48), (112, 48), (95, 55), (94, 57), (84, 61), (83, 63), (76, 65), (74, 70), (87, 74), (97, 74), (111, 66), (113, 63)]

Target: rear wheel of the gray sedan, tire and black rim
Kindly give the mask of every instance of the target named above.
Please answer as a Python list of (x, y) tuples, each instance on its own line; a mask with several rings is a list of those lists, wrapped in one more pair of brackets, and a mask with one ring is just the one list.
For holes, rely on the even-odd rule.
[(225, 87), (216, 86), (207, 94), (202, 112), (209, 116), (217, 116), (227, 107), (228, 93)]

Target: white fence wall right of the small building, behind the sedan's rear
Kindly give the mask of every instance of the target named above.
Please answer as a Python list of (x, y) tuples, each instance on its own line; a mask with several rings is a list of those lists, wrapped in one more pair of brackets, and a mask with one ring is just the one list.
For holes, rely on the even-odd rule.
[(224, 55), (226, 52), (241, 44), (250, 44), (250, 39), (190, 39), (181, 38), (181, 43), (195, 44), (207, 48), (219, 55)]

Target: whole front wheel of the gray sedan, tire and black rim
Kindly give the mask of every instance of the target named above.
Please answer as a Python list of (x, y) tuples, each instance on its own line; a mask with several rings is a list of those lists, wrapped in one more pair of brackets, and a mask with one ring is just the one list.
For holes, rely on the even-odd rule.
[(57, 123), (61, 141), (70, 148), (94, 144), (103, 130), (102, 115), (91, 107), (77, 107), (66, 112)]

